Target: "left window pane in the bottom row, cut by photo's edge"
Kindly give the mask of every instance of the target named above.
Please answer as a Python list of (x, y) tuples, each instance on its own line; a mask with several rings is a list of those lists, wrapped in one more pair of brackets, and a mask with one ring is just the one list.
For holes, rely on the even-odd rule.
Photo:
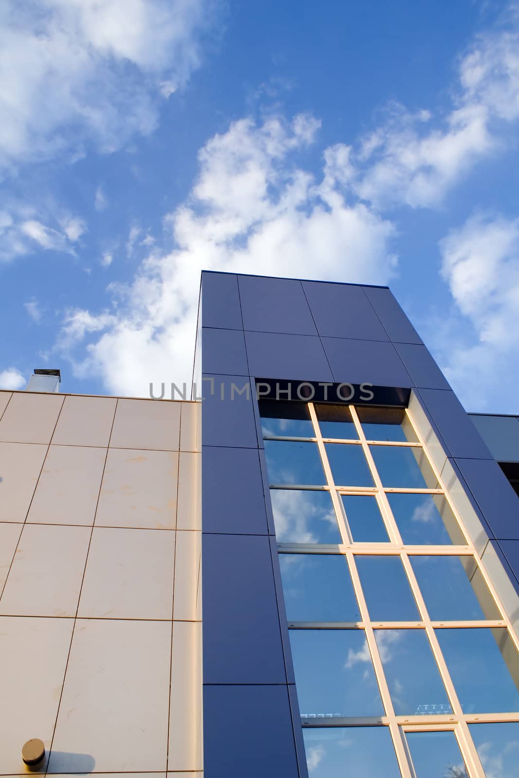
[(305, 727), (310, 778), (400, 778), (389, 727)]

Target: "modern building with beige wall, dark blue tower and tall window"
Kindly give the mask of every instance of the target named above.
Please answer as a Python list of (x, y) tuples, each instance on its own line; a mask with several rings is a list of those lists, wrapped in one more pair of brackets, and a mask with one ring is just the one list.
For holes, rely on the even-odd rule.
[(516, 427), (387, 287), (215, 272), (191, 401), (0, 393), (0, 775), (519, 775)]

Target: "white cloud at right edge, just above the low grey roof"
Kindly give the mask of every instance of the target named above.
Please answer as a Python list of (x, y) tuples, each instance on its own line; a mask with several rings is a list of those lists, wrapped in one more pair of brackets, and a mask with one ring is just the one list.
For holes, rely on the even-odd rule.
[(519, 219), (472, 216), (440, 251), (456, 305), (437, 343), (444, 371), (471, 410), (495, 403), (496, 386), (511, 410), (516, 393), (500, 377), (514, 383), (519, 362)]

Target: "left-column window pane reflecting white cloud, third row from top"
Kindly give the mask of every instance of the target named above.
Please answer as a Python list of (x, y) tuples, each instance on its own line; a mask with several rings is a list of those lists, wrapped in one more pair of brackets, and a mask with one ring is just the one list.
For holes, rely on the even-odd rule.
[(342, 543), (330, 492), (271, 489), (279, 543)]

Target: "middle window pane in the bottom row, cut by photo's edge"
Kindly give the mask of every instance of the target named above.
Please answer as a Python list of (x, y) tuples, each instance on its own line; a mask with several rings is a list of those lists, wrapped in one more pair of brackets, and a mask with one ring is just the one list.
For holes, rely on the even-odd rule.
[(406, 732), (405, 739), (416, 778), (468, 778), (454, 732)]

